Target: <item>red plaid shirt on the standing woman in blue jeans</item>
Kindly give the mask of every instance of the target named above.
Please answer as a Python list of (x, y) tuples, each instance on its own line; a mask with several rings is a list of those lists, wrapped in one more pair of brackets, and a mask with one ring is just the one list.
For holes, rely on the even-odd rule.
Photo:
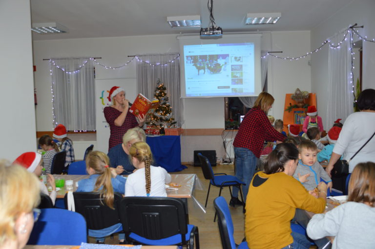
[(260, 108), (252, 108), (241, 122), (233, 141), (234, 147), (247, 148), (259, 158), (264, 141), (284, 141), (285, 136), (271, 125), (266, 113)]

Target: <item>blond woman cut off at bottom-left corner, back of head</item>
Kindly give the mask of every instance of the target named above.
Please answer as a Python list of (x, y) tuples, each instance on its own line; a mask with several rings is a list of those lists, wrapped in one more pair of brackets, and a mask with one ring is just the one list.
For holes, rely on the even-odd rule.
[(21, 166), (2, 161), (0, 191), (0, 249), (21, 249), (39, 217), (39, 180)]

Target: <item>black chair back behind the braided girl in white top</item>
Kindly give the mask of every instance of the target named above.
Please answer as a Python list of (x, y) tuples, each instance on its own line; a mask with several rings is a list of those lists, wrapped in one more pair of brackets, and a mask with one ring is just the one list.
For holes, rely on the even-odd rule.
[(181, 234), (186, 245), (187, 217), (184, 202), (172, 197), (125, 197), (121, 221), (127, 240), (131, 232), (150, 240)]

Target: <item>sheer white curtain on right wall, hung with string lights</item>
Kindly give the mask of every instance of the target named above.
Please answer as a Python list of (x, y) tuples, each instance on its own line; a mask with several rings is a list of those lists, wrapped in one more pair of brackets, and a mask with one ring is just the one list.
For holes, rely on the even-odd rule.
[[(334, 45), (337, 45), (346, 32), (342, 31), (332, 38), (329, 38)], [(351, 51), (350, 35), (347, 35), (339, 49), (329, 50), (329, 81), (328, 81), (328, 104), (327, 104), (327, 124), (332, 125), (337, 118), (346, 119), (353, 113), (353, 87), (351, 83)]]

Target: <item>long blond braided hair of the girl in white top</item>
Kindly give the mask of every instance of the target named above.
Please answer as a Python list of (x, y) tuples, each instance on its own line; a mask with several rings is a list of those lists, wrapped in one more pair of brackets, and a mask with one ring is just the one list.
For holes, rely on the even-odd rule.
[(151, 172), (150, 165), (152, 162), (151, 149), (145, 142), (136, 142), (129, 149), (129, 158), (135, 157), (140, 163), (145, 162), (146, 177), (146, 194), (150, 195), (151, 191)]

